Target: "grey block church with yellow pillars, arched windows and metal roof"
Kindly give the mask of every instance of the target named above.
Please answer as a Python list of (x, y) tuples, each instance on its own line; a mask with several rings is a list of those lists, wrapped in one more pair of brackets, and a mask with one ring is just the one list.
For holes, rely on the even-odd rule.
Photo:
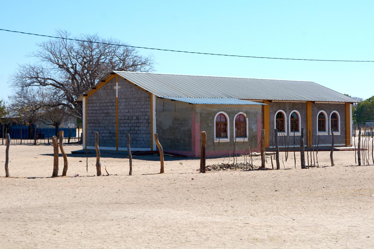
[[(156, 150), (200, 155), (206, 131), (206, 155), (258, 151), (261, 130), (266, 148), (299, 146), (301, 128), (308, 147), (352, 146), (352, 103), (356, 100), (310, 81), (113, 71), (77, 99), (83, 102), (83, 148)], [(310, 132), (309, 132), (310, 131)], [(295, 139), (296, 137), (296, 139)]]

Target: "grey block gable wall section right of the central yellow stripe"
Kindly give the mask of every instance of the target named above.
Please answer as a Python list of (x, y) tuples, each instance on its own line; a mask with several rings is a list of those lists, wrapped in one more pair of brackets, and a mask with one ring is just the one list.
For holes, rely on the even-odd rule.
[(119, 77), (118, 85), (118, 146), (151, 148), (151, 94)]

